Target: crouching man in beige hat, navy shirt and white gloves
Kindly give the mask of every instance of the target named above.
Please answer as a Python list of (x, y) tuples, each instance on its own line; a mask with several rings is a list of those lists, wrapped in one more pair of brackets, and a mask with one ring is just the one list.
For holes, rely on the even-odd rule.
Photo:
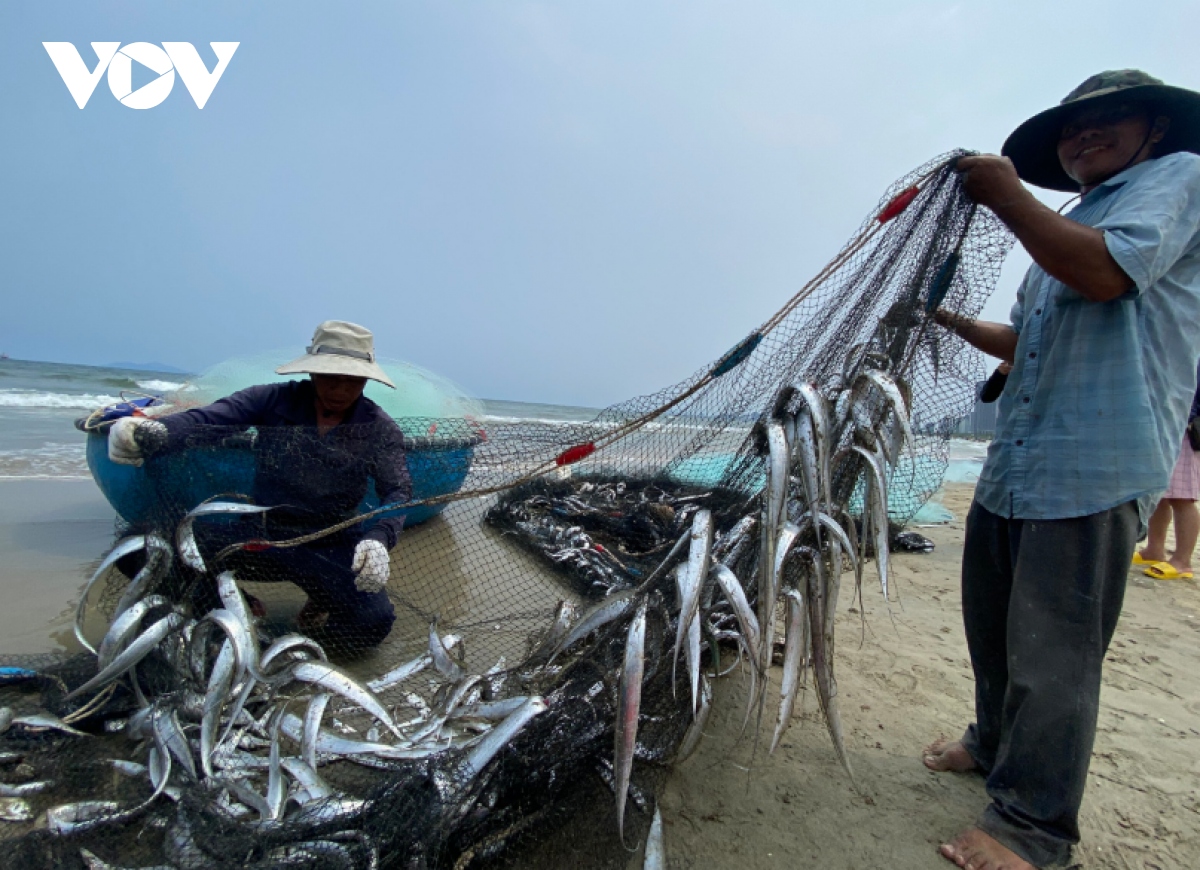
[[(383, 504), (412, 497), (400, 427), (362, 395), (368, 379), (395, 389), (376, 362), (370, 330), (326, 320), (304, 356), (275, 371), (307, 373), (310, 379), (251, 386), (154, 420), (122, 418), (109, 432), (109, 457), (142, 464), (148, 456), (256, 428), (253, 498), (272, 508), (266, 528), (262, 517), (203, 528), (197, 523), (197, 542), (206, 558), (232, 542), (298, 538), (342, 522), (354, 516), (370, 480)], [(294, 582), (308, 595), (298, 619), (301, 630), (335, 650), (361, 652), (383, 641), (396, 618), (385, 590), (388, 551), (403, 524), (402, 515), (384, 515), (367, 530), (352, 526), (302, 546), (235, 553), (222, 568)], [(251, 604), (260, 608), (254, 599)]]

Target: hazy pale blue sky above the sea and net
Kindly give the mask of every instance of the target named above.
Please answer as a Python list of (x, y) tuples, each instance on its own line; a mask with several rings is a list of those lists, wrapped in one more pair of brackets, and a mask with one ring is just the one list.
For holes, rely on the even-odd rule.
[[(724, 353), (926, 160), (1099, 70), (1200, 88), (1198, 35), (1194, 0), (6, 0), (0, 350), (199, 370), (340, 318), (474, 395), (607, 404)], [(80, 110), (49, 41), (241, 44), (203, 110), (178, 79)]]

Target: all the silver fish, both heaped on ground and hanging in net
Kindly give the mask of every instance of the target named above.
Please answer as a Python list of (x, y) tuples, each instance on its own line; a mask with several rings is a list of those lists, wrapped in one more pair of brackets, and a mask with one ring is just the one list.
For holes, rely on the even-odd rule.
[[(340, 790), (323, 769), (356, 764), (400, 775), (414, 763), (424, 764), (444, 811), (461, 818), (476, 794), (472, 784), (546, 713), (566, 662), (586, 655), (583, 641), (598, 637), (622, 650), (606, 708), (613, 716), (611, 763), (600, 764), (600, 773), (614, 792), (623, 840), (630, 797), (650, 811), (632, 782), (635, 758), (647, 752), (638, 731), (644, 726), (650, 656), (655, 673), (658, 660), (668, 659), (676, 709), (689, 719), (671, 762), (686, 758), (703, 733), (712, 709), (712, 677), (739, 662), (748, 665), (752, 685), (746, 722), (755, 713), (761, 722), (768, 671), (781, 646), (770, 751), (782, 739), (811, 671), (836, 755), (852, 776), (836, 701), (834, 614), (844, 570), (853, 571), (862, 594), (869, 545), (883, 595), (889, 594), (889, 467), (913, 436), (901, 386), (872, 367), (870, 359), (832, 398), (802, 383), (785, 389), (774, 407), (757, 427), (766, 481), (757, 508), (745, 516), (715, 518), (703, 506), (703, 494), (649, 497), (644, 486), (632, 487), (634, 503), (656, 522), (642, 523), (641, 539), (618, 556), (613, 547), (596, 546), (578, 517), (596, 510), (596, 498), (620, 503), (626, 496), (622, 484), (584, 481), (587, 499), (565, 494), (535, 504), (539, 510), (522, 508), (516, 521), (535, 527), (547, 553), (577, 560), (596, 586), (594, 592), (606, 594), (582, 612), (563, 601), (540, 642), (511, 668), (500, 659), (482, 673), (469, 672), (461, 655), (463, 642), (439, 635), (436, 622), (425, 652), (368, 682), (331, 664), (320, 644), (301, 634), (260, 637), (234, 574), (209, 574), (193, 523), (202, 516), (266, 508), (214, 500), (180, 522), (174, 541), (155, 534), (120, 541), (97, 568), (77, 611), (76, 634), (95, 655), (96, 672), (65, 695), (67, 704), (78, 704), (74, 713), (58, 720), (0, 710), (0, 731), (58, 728), (72, 739), (86, 739), (72, 722), (119, 690), (132, 695), (133, 712), (107, 721), (106, 728), (131, 742), (128, 757), (110, 763), (120, 774), (144, 778), (145, 797), (127, 804), (84, 799), (50, 806), (44, 810), (46, 829), (67, 836), (125, 823), (199, 788), (214, 812), (244, 832), (318, 832), (257, 853), (254, 860), (263, 866), (304, 866), (314, 856), (334, 856), (330, 865), (376, 866), (379, 845), (364, 827), (368, 796)], [(862, 532), (847, 510), (856, 492), (863, 499)], [(676, 540), (666, 538), (680, 528)], [(84, 631), (92, 588), (119, 559), (139, 551), (144, 566), (121, 592), (103, 638), (94, 646)], [(656, 568), (631, 569), (630, 557), (641, 558), (638, 564), (649, 557)], [(174, 559), (216, 586), (221, 607), (193, 616), (161, 594), (160, 581)], [(780, 612), (781, 642), (776, 641)], [(666, 638), (665, 653), (647, 649), (653, 620), (660, 620), (655, 629), (661, 630), (653, 636)], [(710, 672), (706, 656), (718, 662), (722, 647), (733, 647), (737, 658), (732, 666)], [(152, 691), (148, 686), (161, 683), (143, 676), (163, 668), (172, 674), (172, 690)], [(590, 694), (604, 694), (605, 682)], [(0, 818), (29, 822), (35, 817), (29, 798), (47, 787), (37, 781), (0, 784)], [(182, 812), (168, 826), (163, 842), (163, 857), (172, 866), (217, 865)], [(86, 850), (83, 857), (94, 868), (115, 866)], [(655, 811), (647, 862), (655, 866), (661, 860), (661, 818)]]

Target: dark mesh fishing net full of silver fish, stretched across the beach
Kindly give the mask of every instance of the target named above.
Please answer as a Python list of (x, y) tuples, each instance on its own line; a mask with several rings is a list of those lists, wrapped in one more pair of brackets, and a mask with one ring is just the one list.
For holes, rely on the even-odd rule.
[[(10, 662), (0, 863), (625, 866), (739, 662), (764, 748), (811, 673), (850, 772), (841, 583), (883, 580), (938, 486), (980, 371), (930, 312), (976, 314), (1010, 245), (958, 156), (680, 384), (588, 424), (397, 420), (404, 505), (347, 484), (364, 456), (388, 479), (390, 428), (151, 454), (79, 607), (95, 652)], [(338, 598), (397, 515), (385, 590)]]

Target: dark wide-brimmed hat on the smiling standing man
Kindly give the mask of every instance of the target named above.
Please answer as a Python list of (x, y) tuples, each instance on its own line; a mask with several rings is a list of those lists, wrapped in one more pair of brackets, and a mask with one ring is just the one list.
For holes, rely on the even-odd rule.
[(1078, 193), (1079, 182), (1058, 162), (1063, 124), (1081, 107), (1133, 101), (1146, 103), (1152, 115), (1171, 119), (1166, 136), (1154, 146), (1156, 157), (1176, 151), (1200, 154), (1200, 94), (1165, 85), (1141, 70), (1110, 70), (1092, 76), (1052, 109), (1033, 115), (1014, 130), (1001, 154), (1013, 161), (1016, 174), (1031, 185)]

